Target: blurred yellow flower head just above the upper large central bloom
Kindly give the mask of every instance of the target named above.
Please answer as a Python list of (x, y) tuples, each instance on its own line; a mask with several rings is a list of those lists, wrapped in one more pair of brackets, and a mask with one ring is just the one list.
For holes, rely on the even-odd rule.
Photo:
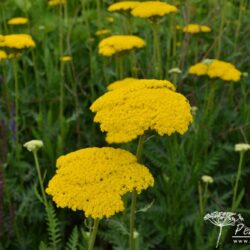
[(98, 47), (99, 54), (112, 56), (122, 51), (142, 48), (145, 45), (145, 41), (138, 36), (115, 35), (103, 39)]

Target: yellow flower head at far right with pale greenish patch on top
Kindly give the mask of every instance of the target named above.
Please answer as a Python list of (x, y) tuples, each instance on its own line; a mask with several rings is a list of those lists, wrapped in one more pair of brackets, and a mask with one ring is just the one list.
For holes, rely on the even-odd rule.
[(241, 72), (231, 63), (217, 59), (206, 59), (191, 66), (188, 70), (193, 75), (208, 75), (210, 78), (220, 78), (224, 81), (238, 82)]

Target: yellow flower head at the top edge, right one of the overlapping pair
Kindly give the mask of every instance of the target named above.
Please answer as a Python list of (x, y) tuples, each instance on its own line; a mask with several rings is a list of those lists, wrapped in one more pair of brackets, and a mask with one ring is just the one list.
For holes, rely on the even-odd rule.
[(173, 12), (177, 12), (177, 8), (174, 5), (160, 1), (147, 1), (136, 6), (131, 11), (131, 14), (141, 18), (150, 18), (165, 16)]

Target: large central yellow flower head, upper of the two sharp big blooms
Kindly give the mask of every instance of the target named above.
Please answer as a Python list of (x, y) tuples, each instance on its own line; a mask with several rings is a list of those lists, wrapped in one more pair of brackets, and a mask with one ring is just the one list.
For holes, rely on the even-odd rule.
[[(127, 87), (126, 87), (127, 85)], [(95, 122), (107, 132), (108, 143), (129, 142), (147, 130), (160, 135), (184, 134), (192, 122), (187, 99), (161, 80), (125, 80), (109, 86), (109, 92), (90, 107)]]

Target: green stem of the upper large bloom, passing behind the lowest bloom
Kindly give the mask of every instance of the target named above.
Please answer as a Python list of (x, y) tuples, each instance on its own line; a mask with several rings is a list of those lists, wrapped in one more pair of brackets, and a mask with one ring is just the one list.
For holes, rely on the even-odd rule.
[[(143, 144), (144, 144), (144, 135), (140, 136), (139, 142), (137, 145), (137, 150), (136, 150), (136, 158), (139, 163), (141, 162)], [(130, 233), (129, 233), (129, 249), (130, 250), (135, 250), (134, 231), (135, 231), (136, 198), (137, 198), (137, 192), (136, 192), (136, 189), (134, 189), (132, 192), (132, 201), (131, 201), (131, 210), (130, 210)]]

